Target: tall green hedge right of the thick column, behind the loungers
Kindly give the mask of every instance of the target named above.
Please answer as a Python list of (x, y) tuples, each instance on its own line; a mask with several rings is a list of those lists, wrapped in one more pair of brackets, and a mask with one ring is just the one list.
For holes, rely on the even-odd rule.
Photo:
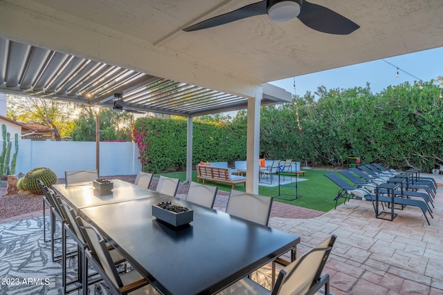
[(317, 101), (308, 93), (295, 104), (262, 108), (260, 143), (267, 158), (344, 166), (347, 157), (361, 157), (363, 163), (424, 171), (443, 164), (443, 99), (432, 81), (377, 94), (369, 85), (319, 88), (317, 94)]

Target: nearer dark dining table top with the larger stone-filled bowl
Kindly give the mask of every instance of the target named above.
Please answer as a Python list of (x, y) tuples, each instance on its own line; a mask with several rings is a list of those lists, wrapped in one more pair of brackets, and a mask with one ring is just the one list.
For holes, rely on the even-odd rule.
[[(190, 225), (157, 221), (152, 204), (194, 210)], [(80, 209), (128, 262), (163, 294), (214, 294), (295, 249), (299, 236), (170, 196)]]

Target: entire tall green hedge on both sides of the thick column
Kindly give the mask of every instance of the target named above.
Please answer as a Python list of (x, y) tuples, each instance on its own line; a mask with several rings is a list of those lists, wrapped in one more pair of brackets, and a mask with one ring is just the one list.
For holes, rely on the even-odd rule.
[[(443, 165), (443, 99), (431, 82), (390, 86), (318, 88), (291, 104), (261, 109), (260, 153), (267, 159), (309, 160), (318, 166), (345, 166), (347, 157), (363, 164), (431, 171)], [(193, 164), (246, 158), (246, 111), (232, 123), (194, 122)], [(184, 170), (186, 120), (143, 118), (134, 138), (143, 169)]]

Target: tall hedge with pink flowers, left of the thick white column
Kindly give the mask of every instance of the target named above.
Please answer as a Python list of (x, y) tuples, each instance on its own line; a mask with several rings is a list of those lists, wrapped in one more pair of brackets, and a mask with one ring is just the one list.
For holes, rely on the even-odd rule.
[[(186, 167), (187, 121), (180, 117), (136, 120), (134, 140), (143, 171), (183, 171)], [(244, 160), (246, 134), (223, 122), (193, 122), (193, 163)]]

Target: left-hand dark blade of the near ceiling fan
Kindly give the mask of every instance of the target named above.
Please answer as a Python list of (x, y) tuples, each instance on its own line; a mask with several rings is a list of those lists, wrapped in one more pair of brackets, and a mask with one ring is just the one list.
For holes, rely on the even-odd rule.
[(237, 10), (225, 13), (224, 15), (218, 15), (206, 21), (201, 21), (195, 25), (184, 28), (185, 32), (192, 32), (193, 30), (202, 30), (206, 28), (212, 28), (215, 26), (224, 25), (239, 19), (246, 19), (246, 17), (254, 17), (255, 15), (266, 15), (266, 0), (252, 3)]

